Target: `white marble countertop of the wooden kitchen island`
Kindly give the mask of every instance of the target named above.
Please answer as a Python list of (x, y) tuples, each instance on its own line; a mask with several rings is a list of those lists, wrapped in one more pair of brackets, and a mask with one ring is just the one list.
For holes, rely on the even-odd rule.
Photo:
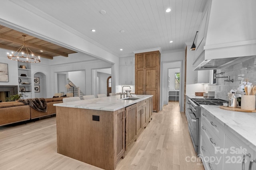
[(93, 109), (93, 110), (104, 110), (104, 111), (116, 111), (124, 107), (136, 104), (142, 100), (153, 97), (153, 95), (132, 95), (134, 98), (139, 98), (137, 100), (122, 100), (120, 95), (109, 96), (104, 98), (95, 98), (87, 100), (79, 100), (74, 102), (58, 103), (54, 106), (61, 107), (74, 107), (81, 109)]

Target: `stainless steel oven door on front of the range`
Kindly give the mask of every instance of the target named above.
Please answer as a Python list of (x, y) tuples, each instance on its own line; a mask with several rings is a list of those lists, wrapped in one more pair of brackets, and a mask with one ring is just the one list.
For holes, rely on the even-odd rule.
[(188, 109), (189, 117), (188, 117), (188, 127), (190, 137), (192, 139), (192, 143), (196, 152), (198, 151), (196, 148), (198, 147), (198, 119), (196, 119), (196, 115), (192, 112), (191, 109)]

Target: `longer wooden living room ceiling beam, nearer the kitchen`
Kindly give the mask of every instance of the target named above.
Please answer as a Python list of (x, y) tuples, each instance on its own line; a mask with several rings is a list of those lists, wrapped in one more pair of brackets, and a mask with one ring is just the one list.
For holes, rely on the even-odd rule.
[[(7, 35), (3, 35), (3, 34), (0, 34), (0, 39), (3, 39), (5, 41), (9, 41), (11, 43), (18, 43), (18, 44), (22, 44), (24, 41), (23, 40), (20, 40), (20, 39), (16, 39), (16, 38), (13, 38), (13, 37), (9, 37)], [(32, 44), (32, 43), (28, 43), (26, 42), (26, 45), (28, 45), (29, 47), (34, 47), (36, 49), (39, 49), (39, 50), (43, 50), (43, 51), (47, 51), (49, 53), (54, 53), (55, 55), (60, 55), (60, 56), (63, 56), (63, 57), (68, 57), (68, 54), (66, 53), (62, 53), (60, 51), (56, 51), (56, 50), (53, 50), (53, 49), (49, 49), (47, 47), (42, 47), (40, 45), (36, 45), (36, 44)]]

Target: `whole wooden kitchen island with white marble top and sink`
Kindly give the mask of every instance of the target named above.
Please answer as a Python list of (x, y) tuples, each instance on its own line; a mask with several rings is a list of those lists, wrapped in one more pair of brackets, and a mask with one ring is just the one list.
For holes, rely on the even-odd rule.
[(57, 152), (106, 170), (116, 168), (152, 119), (152, 95), (132, 100), (110, 96), (54, 106)]

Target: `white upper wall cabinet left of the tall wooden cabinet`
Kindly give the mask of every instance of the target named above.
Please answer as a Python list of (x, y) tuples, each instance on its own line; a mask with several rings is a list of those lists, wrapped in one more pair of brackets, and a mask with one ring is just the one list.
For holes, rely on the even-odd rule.
[(120, 85), (132, 85), (135, 84), (135, 58), (134, 57), (124, 57), (120, 58), (119, 67), (119, 80)]

